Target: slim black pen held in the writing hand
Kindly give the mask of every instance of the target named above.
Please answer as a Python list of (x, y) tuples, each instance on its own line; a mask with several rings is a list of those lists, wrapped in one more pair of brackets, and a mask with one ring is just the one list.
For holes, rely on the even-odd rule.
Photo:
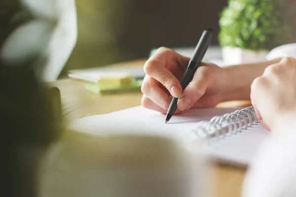
[[(193, 56), (189, 61), (189, 64), (185, 70), (185, 73), (180, 81), (182, 89), (184, 90), (185, 87), (189, 84), (189, 82), (192, 80), (193, 75), (196, 71), (196, 69), (200, 66), (200, 63), (211, 43), (213, 30), (211, 28), (206, 29), (200, 39), (198, 44), (196, 45), (196, 48), (194, 50)], [(174, 115), (175, 111), (177, 110), (177, 102), (178, 98), (174, 98), (171, 100), (167, 116), (165, 119), (165, 123), (167, 123), (172, 116)]]

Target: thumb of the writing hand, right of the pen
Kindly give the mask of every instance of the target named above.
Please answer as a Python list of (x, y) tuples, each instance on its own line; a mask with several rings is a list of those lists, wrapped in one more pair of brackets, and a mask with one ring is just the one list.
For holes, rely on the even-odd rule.
[(189, 82), (178, 101), (178, 108), (180, 110), (190, 108), (191, 105), (205, 94), (209, 76), (207, 70), (205, 67), (200, 67), (194, 74), (192, 81)]

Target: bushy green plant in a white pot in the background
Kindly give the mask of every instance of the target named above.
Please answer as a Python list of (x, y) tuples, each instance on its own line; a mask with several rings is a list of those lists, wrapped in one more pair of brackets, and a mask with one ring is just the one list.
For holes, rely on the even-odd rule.
[(289, 43), (283, 0), (228, 0), (218, 36), (225, 65), (265, 60), (268, 52)]

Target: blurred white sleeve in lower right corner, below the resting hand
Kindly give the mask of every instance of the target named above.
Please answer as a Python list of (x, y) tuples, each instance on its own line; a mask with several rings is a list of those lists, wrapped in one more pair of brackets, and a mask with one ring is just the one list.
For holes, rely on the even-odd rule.
[(284, 125), (262, 144), (247, 171), (242, 197), (296, 196), (295, 126)]

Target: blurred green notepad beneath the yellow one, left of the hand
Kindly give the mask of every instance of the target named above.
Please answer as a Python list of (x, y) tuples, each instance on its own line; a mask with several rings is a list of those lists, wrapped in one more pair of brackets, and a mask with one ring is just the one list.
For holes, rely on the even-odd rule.
[(99, 83), (87, 83), (85, 88), (96, 94), (112, 94), (123, 92), (138, 92), (141, 91), (143, 79), (134, 80), (133, 82), (121, 86), (100, 86)]

